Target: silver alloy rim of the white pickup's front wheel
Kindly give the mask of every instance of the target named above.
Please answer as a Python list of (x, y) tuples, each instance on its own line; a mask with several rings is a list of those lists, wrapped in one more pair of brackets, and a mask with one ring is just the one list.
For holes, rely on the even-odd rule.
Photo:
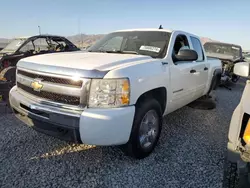
[(148, 111), (142, 118), (139, 141), (143, 149), (151, 148), (159, 134), (159, 116), (155, 110)]

